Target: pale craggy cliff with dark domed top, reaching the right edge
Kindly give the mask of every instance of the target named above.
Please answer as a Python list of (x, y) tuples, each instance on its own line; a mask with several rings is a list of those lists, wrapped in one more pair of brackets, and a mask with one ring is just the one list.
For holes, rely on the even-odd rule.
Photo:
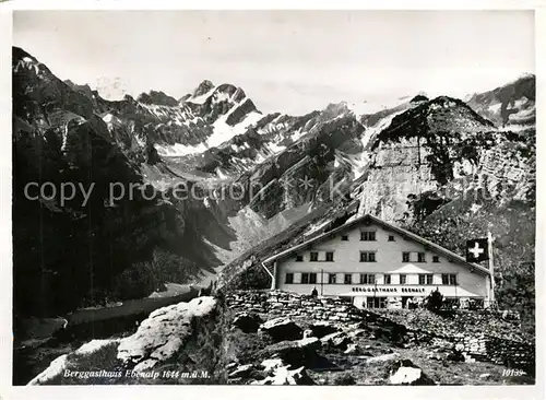
[(535, 132), (496, 129), (461, 101), (438, 97), (392, 119), (371, 145), (360, 213), (400, 220), (424, 193), (483, 190), (499, 204), (532, 201)]

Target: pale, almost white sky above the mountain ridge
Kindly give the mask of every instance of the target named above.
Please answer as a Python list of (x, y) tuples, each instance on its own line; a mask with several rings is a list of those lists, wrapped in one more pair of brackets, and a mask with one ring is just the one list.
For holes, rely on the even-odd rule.
[(533, 11), (15, 11), (13, 42), (107, 98), (201, 81), (265, 113), (495, 89), (535, 72)]

